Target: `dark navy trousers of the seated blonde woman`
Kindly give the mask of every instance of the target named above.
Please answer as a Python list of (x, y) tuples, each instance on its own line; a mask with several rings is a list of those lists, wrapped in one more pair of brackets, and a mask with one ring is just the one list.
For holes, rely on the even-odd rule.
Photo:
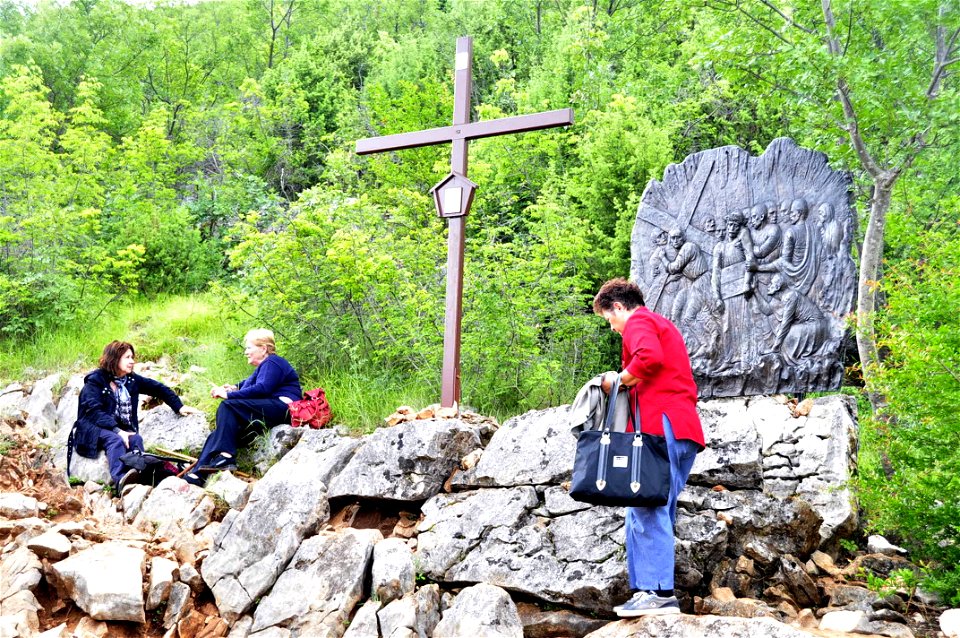
[(280, 399), (224, 399), (217, 408), (217, 427), (203, 444), (197, 467), (209, 465), (220, 452), (236, 459), (239, 447), (284, 423), (290, 423), (290, 413)]

